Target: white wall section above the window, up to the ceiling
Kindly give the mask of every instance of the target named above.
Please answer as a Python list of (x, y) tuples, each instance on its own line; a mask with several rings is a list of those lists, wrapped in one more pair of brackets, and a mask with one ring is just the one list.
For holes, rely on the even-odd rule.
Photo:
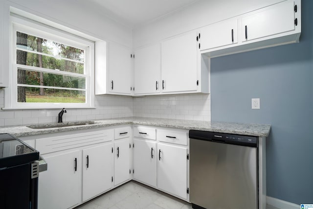
[(1, 0), (54, 23), (59, 23), (104, 41), (132, 47), (132, 29), (108, 18), (88, 1), (81, 0)]

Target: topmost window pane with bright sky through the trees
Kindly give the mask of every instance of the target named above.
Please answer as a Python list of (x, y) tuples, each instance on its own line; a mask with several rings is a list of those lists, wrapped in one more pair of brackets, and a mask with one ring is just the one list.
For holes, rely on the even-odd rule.
[(83, 49), (67, 46), (48, 39), (17, 32), (16, 47), (31, 51), (38, 51), (61, 58), (68, 58), (84, 62), (85, 53)]

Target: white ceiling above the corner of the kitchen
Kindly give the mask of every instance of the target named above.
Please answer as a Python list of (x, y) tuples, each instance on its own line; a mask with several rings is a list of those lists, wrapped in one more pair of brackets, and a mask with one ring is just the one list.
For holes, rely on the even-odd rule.
[(134, 28), (177, 11), (198, 0), (88, 0), (112, 20)]

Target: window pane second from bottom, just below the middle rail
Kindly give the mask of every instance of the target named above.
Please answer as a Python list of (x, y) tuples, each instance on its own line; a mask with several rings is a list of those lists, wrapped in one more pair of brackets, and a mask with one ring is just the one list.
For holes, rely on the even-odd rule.
[(86, 78), (58, 75), (47, 72), (18, 69), (18, 77), (25, 75), (25, 81), (18, 80), (18, 84), (54, 86), (74, 89), (86, 89)]

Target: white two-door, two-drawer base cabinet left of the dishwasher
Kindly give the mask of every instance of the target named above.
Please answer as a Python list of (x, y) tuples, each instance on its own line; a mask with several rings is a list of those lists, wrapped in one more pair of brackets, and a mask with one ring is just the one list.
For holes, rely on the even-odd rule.
[(134, 180), (189, 200), (188, 130), (135, 125)]

